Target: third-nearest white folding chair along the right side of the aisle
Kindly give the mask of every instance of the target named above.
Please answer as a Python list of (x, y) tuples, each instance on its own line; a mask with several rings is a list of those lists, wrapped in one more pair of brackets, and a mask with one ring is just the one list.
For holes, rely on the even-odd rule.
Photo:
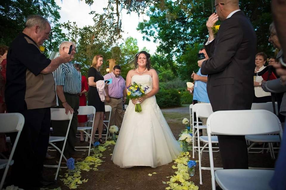
[[(197, 109), (200, 105), (211, 105), (210, 103), (198, 103), (195, 105), (192, 105), (192, 132), (193, 132), (193, 139), (192, 139), (192, 149), (193, 149), (193, 158), (195, 158), (195, 148), (198, 148), (198, 146), (196, 146), (196, 134), (199, 132), (199, 129), (206, 129), (206, 126), (204, 125), (199, 125), (202, 122), (198, 121), (198, 117), (196, 117), (196, 121), (195, 121), (195, 117), (194, 117), (194, 113), (197, 112)], [(190, 105), (190, 113), (191, 113), (191, 105)], [(200, 144), (200, 139), (199, 139), (200, 135), (198, 135), (198, 144)]]

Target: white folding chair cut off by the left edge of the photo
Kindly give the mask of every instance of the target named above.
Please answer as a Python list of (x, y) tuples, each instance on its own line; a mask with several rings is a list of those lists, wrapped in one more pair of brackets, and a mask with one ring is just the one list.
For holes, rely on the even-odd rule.
[(1, 179), (0, 189), (2, 189), (9, 166), (13, 165), (12, 160), (20, 134), (25, 123), (24, 116), (21, 113), (0, 113), (0, 133), (18, 132), (9, 159), (0, 159), (0, 169), (5, 168)]

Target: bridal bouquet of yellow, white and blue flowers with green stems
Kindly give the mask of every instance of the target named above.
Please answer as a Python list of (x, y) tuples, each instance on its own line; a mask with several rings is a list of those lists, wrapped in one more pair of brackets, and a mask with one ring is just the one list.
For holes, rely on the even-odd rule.
[[(149, 89), (148, 86), (143, 87), (141, 84), (133, 82), (133, 83), (130, 83), (130, 85), (127, 87), (127, 96), (129, 99), (140, 98), (141, 96), (145, 95), (145, 92), (148, 89)], [(136, 112), (142, 111), (140, 103), (135, 105), (135, 111)]]

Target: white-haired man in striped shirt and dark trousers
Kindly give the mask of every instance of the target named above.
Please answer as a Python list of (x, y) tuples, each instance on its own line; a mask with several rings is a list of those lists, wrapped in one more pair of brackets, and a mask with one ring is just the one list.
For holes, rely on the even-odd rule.
[[(69, 53), (69, 47), (72, 45), (71, 57), (74, 59), (76, 53), (75, 45), (73, 42), (62, 42), (59, 48), (59, 54)], [(71, 126), (69, 129), (68, 138), (63, 154), (67, 159), (81, 159), (80, 156), (75, 154), (74, 145), (77, 132), (77, 114), (79, 108), (79, 95), (81, 92), (81, 74), (75, 69), (71, 62), (62, 64), (57, 70), (53, 72), (55, 83), (57, 85), (57, 96), (59, 101), (58, 108), (65, 108), (66, 114), (73, 113)], [(52, 121), (53, 136), (64, 137), (69, 125), (69, 121)], [(61, 149), (63, 141), (57, 143)], [(58, 153), (58, 152), (57, 152)], [(57, 155), (59, 156), (59, 155)]]

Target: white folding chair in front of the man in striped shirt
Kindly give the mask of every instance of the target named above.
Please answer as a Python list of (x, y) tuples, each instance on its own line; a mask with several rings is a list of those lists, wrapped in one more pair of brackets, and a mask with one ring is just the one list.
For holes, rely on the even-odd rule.
[[(53, 137), (53, 136), (49, 137), (49, 144), (52, 145), (52, 147), (54, 147), (57, 151), (60, 152), (60, 160), (59, 160), (59, 164), (58, 165), (44, 165), (44, 167), (57, 167), (55, 180), (57, 180), (57, 175), (58, 175), (59, 170), (60, 170), (60, 163), (62, 161), (62, 158), (64, 157), (64, 159), (66, 160), (66, 157), (63, 155), (63, 151), (64, 151), (65, 146), (66, 146), (66, 139), (68, 138), (69, 127), (71, 126), (72, 115), (73, 114), (71, 114), (70, 112), (68, 114), (66, 114), (66, 109), (65, 108), (51, 108), (51, 120), (52, 121), (69, 120), (69, 125), (68, 125), (68, 128), (67, 128), (65, 137)], [(59, 142), (59, 141), (64, 141), (62, 150), (60, 150), (56, 145), (53, 144), (53, 143)]]

